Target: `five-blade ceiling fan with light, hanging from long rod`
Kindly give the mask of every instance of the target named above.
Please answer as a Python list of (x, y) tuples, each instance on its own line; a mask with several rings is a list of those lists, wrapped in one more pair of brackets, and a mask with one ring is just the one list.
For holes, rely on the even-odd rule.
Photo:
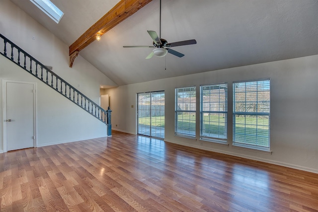
[(182, 58), (184, 54), (177, 52), (175, 50), (172, 50), (168, 47), (175, 47), (175, 46), (185, 46), (185, 45), (191, 45), (196, 44), (197, 41), (192, 40), (185, 40), (185, 41), (178, 41), (173, 43), (168, 43), (165, 39), (161, 38), (161, 0), (160, 0), (160, 17), (159, 17), (159, 36), (157, 32), (147, 30), (150, 37), (153, 39), (153, 46), (123, 46), (124, 48), (155, 48), (150, 55), (146, 59), (152, 58), (154, 55), (157, 57), (164, 57), (167, 53), (170, 53), (172, 55), (175, 55), (179, 58)]

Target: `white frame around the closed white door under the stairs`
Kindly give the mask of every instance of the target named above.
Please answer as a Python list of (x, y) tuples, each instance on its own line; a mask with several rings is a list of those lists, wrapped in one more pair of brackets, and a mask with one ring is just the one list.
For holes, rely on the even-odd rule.
[(34, 147), (37, 147), (37, 84), (36, 82), (29, 81), (19, 81), (19, 80), (10, 80), (10, 79), (2, 79), (2, 102), (3, 102), (3, 152), (7, 152), (7, 135), (6, 135), (6, 83), (21, 83), (21, 84), (32, 84), (33, 85), (33, 124), (34, 124)]

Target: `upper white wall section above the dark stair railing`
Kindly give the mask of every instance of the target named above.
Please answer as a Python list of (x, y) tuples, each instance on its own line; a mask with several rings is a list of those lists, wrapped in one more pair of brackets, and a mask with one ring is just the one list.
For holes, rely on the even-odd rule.
[(95, 102), (99, 85), (116, 86), (81, 56), (70, 68), (69, 47), (9, 0), (0, 0), (0, 33)]

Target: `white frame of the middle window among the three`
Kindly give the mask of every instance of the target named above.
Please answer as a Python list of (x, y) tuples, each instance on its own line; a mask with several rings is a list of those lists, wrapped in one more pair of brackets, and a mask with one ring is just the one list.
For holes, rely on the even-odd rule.
[[(211, 109), (204, 111), (204, 102), (203, 102), (203, 89), (206, 86), (215, 86), (218, 88), (215, 88), (213, 90), (218, 90), (218, 97), (213, 98), (213, 99), (219, 99), (219, 104), (220, 104), (220, 90), (221, 89), (226, 89), (225, 92), (225, 109), (224, 111), (219, 110), (214, 110), (211, 111)], [(221, 86), (223, 86), (223, 88), (221, 88)], [(211, 88), (209, 89), (211, 90)], [(216, 143), (223, 143), (223, 144), (228, 144), (228, 93), (229, 93), (229, 86), (227, 82), (223, 82), (223, 83), (216, 83), (216, 84), (204, 84), (204, 85), (200, 85), (200, 140), (202, 141), (210, 141), (210, 142), (216, 142)], [(211, 102), (211, 98), (210, 98), (210, 102)], [(220, 107), (220, 105), (219, 105)], [(213, 137), (213, 136), (205, 136), (203, 135), (203, 115), (205, 113), (209, 113), (209, 114), (225, 114), (225, 133), (224, 133), (224, 137), (220, 136), (219, 137)], [(210, 123), (209, 123), (210, 124)], [(219, 121), (219, 128), (220, 128), (220, 121)], [(216, 135), (216, 134), (215, 134)]]

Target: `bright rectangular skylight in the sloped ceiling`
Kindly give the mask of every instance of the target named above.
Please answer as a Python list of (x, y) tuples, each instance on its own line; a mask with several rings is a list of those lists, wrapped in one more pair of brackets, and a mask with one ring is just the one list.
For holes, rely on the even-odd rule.
[(45, 14), (52, 18), (56, 23), (59, 23), (64, 13), (52, 3), (50, 0), (30, 0)]

